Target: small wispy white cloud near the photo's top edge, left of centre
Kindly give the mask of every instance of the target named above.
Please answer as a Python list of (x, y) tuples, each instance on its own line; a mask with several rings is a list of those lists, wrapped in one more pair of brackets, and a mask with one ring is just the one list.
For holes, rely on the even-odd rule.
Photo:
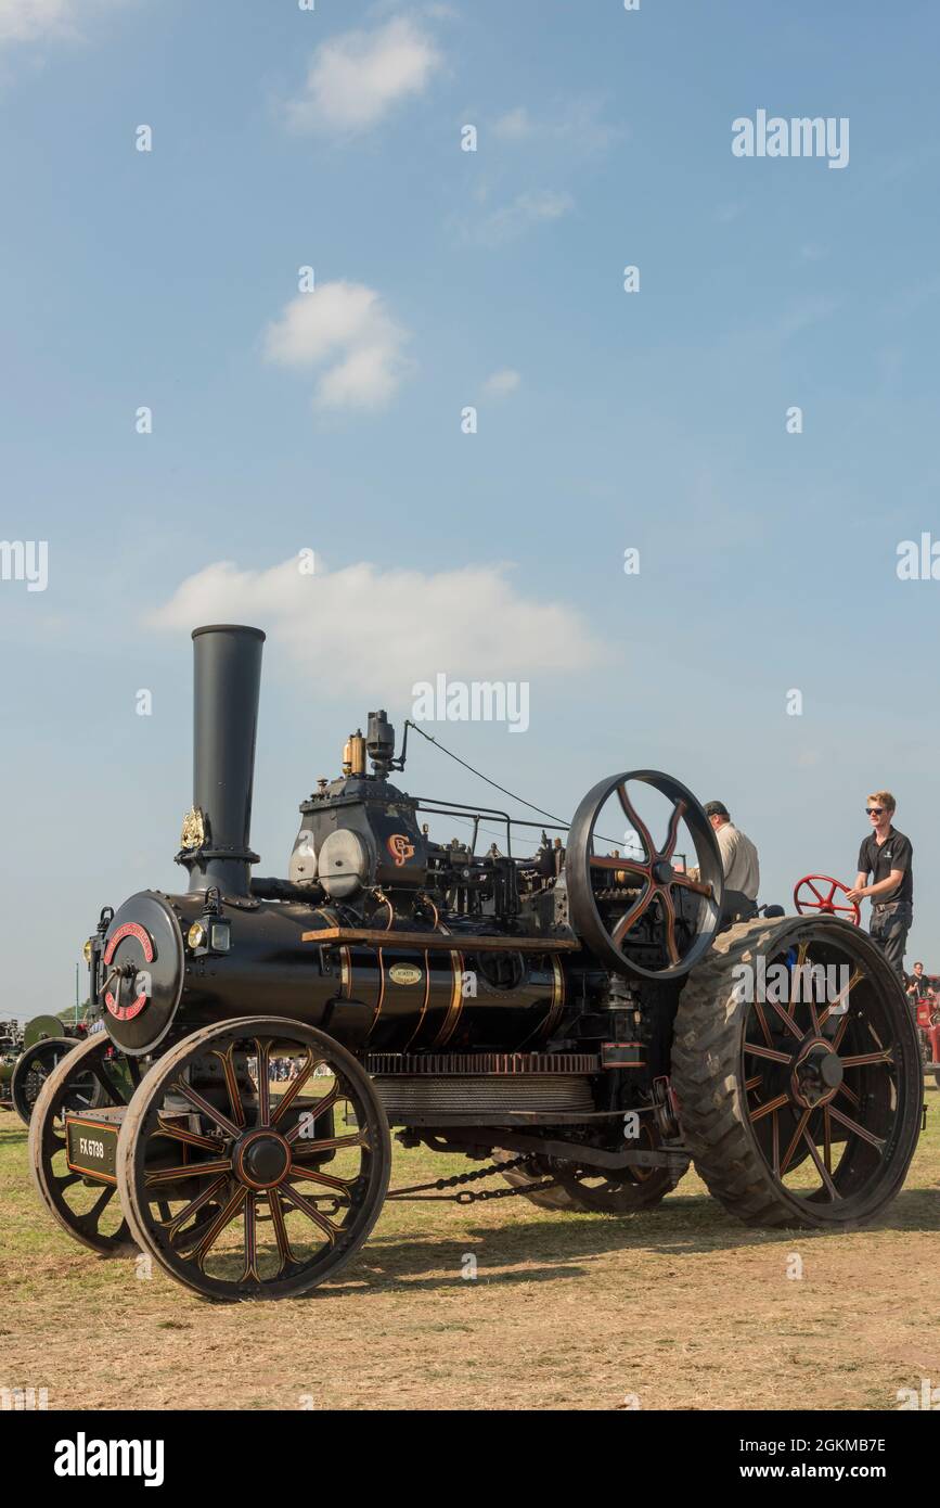
[(300, 131), (363, 131), (401, 100), (422, 93), (443, 57), (431, 36), (404, 17), (375, 32), (343, 32), (313, 53), (288, 119)]

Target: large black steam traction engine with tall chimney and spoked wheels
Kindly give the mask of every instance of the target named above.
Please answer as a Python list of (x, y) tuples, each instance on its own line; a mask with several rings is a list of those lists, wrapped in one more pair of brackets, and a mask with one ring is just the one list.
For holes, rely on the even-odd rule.
[[(393, 786), (404, 757), (371, 713), (301, 804), (288, 878), (252, 878), (264, 635), (193, 639), (188, 888), (101, 912), (107, 1033), (54, 1069), (30, 1126), (39, 1193), (78, 1241), (139, 1247), (209, 1298), (306, 1292), (372, 1229), (389, 1126), (493, 1164), (450, 1182), (502, 1175), (569, 1211), (651, 1209), (690, 1160), (752, 1224), (845, 1229), (896, 1194), (922, 1099), (896, 977), (836, 917), (729, 924), (676, 780), (610, 775), (565, 846), (542, 832), (521, 857), (526, 823)], [(432, 841), (425, 816), (470, 841)], [(505, 852), (478, 854), (494, 823)], [(87, 1075), (95, 1105), (75, 1108)]]

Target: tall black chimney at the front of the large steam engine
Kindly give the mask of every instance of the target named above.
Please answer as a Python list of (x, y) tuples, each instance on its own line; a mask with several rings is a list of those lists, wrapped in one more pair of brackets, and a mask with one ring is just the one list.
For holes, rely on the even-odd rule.
[(194, 810), (178, 855), (190, 870), (190, 890), (218, 885), (229, 896), (250, 893), (249, 866), (258, 863), (249, 837), (264, 639), (261, 629), (232, 623), (193, 630)]

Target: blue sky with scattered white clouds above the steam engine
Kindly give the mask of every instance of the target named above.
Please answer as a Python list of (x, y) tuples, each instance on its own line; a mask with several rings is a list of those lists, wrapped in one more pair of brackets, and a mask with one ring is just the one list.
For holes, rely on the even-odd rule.
[[(0, 0), (0, 535), (50, 559), (0, 582), (5, 1010), (181, 887), (217, 603), (270, 633), (264, 873), (372, 706), (521, 677), (526, 736), (431, 731), (560, 813), (673, 772), (765, 900), (850, 879), (893, 789), (940, 971), (940, 582), (895, 569), (940, 540), (938, 42), (875, 0)], [(758, 109), (848, 118), (848, 166), (734, 157)], [(404, 784), (487, 801), (423, 748)]]

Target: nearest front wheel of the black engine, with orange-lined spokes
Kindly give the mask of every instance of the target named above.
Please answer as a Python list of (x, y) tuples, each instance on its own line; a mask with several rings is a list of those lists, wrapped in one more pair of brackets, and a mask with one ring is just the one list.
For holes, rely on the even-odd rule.
[(142, 1250), (203, 1298), (288, 1298), (333, 1277), (389, 1187), (389, 1122), (356, 1059), (271, 1016), (184, 1038), (140, 1081), (118, 1187)]

